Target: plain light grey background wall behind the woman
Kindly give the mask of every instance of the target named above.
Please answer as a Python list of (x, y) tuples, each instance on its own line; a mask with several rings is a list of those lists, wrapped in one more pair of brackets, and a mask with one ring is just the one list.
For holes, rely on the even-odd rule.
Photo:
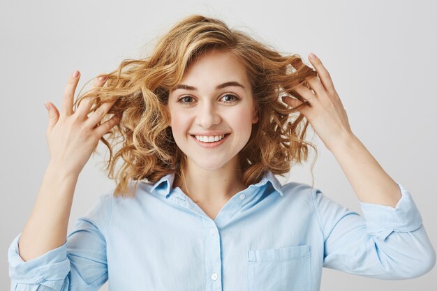
[[(82, 87), (123, 59), (144, 57), (147, 43), (190, 13), (219, 17), (281, 52), (305, 58), (316, 53), (332, 75), (353, 132), (412, 193), (437, 246), (435, 2), (1, 1), (1, 290), (10, 285), (8, 246), (29, 218), (49, 161), (44, 101), (61, 106), (75, 68)], [(319, 146), (315, 186), (361, 213), (334, 156), (317, 136), (313, 142)], [(101, 161), (91, 157), (80, 175), (68, 232), (114, 186)], [(311, 162), (293, 168), (289, 181), (311, 184)], [(436, 275), (434, 268), (412, 280), (380, 281), (324, 269), (322, 290), (435, 290)]]

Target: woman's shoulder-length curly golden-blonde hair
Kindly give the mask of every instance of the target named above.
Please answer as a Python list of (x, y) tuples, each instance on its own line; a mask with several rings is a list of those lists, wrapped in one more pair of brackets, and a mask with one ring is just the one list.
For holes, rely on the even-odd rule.
[[(221, 20), (190, 15), (158, 40), (151, 56), (124, 59), (116, 70), (105, 74), (108, 80), (103, 87), (79, 94), (75, 101), (77, 107), (84, 98), (92, 98), (90, 113), (102, 103), (115, 102), (98, 124), (110, 119), (109, 114), (121, 117), (106, 134), (109, 136), (101, 137), (110, 152), (105, 163), (108, 177), (117, 184), (115, 196), (133, 197), (139, 181), (155, 183), (170, 173), (184, 181), (186, 155), (172, 137), (168, 96), (193, 61), (208, 50), (231, 52), (242, 61), (251, 82), (259, 121), (253, 124), (249, 141), (238, 154), (246, 186), (260, 181), (267, 170), (288, 173), (292, 165), (307, 160), (308, 147), (317, 154), (316, 147), (305, 141), (309, 121), (297, 111), (311, 105), (293, 90), (300, 83), (308, 86), (306, 80), (316, 76), (316, 71), (306, 66), (299, 54), (283, 57)], [(281, 100), (284, 95), (303, 103), (288, 108)], [(112, 147), (118, 144), (121, 147), (113, 152)], [(123, 163), (114, 174), (119, 158)], [(133, 192), (129, 191), (130, 181), (135, 181)]]

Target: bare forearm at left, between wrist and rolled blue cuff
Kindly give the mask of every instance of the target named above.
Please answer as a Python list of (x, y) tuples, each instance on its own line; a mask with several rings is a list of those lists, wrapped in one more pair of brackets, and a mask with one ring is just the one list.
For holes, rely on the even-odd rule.
[(45, 171), (34, 209), (19, 241), (20, 257), (37, 258), (65, 243), (77, 175), (63, 174), (49, 165)]

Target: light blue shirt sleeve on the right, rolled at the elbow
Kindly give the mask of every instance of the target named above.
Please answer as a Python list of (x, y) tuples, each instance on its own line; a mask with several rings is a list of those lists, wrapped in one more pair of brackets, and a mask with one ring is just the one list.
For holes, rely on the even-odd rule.
[(364, 217), (313, 191), (325, 239), (323, 267), (380, 279), (415, 278), (434, 267), (420, 212), (397, 185), (402, 197), (396, 207), (360, 202)]

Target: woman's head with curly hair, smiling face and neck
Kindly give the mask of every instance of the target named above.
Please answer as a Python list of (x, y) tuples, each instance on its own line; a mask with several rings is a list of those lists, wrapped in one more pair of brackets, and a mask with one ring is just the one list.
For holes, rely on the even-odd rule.
[[(112, 102), (109, 113), (123, 116), (111, 135), (102, 137), (110, 149), (108, 175), (117, 181), (116, 196), (133, 195), (128, 181), (154, 183), (175, 174), (175, 184), (184, 184), (184, 190), (199, 199), (196, 192), (209, 193), (209, 189), (216, 191), (206, 195), (207, 201), (229, 198), (260, 181), (267, 170), (288, 173), (292, 165), (306, 161), (308, 147), (313, 147), (304, 139), (308, 121), (297, 112), (299, 107), (287, 108), (279, 93), (304, 100), (294, 89), (316, 76), (316, 71), (298, 54), (281, 56), (221, 20), (186, 17), (158, 41), (150, 57), (123, 61), (105, 76), (103, 87), (77, 98), (77, 105), (88, 98), (94, 100), (95, 110)], [(237, 134), (232, 134), (233, 129)], [(229, 137), (221, 142), (223, 147), (207, 145), (216, 151), (214, 156), (200, 151), (198, 158), (190, 159), (190, 153), (205, 147), (199, 148), (189, 135), (225, 134)], [(112, 153), (119, 137), (124, 147)], [(116, 175), (114, 166), (120, 158), (124, 166)], [(202, 171), (190, 167), (200, 160)], [(218, 171), (222, 166), (225, 169)], [(229, 172), (231, 168), (237, 172)], [(187, 177), (210, 181), (194, 185)], [(228, 183), (223, 184), (223, 179)]]

